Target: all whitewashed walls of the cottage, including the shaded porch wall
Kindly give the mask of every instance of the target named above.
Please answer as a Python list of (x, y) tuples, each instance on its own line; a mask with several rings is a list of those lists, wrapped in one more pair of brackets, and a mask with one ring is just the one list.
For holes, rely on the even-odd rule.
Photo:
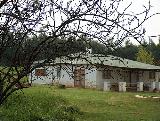
[[(71, 65), (61, 65), (61, 77), (57, 77), (57, 67), (45, 66), (47, 76), (35, 76), (35, 70), (32, 74), (29, 74), (29, 81), (32, 80), (33, 83), (38, 84), (49, 84), (49, 83), (60, 83), (69, 87), (74, 87), (74, 79), (73, 72), (76, 66)], [(112, 70), (111, 79), (103, 79), (102, 71), (104, 69), (98, 68), (94, 66), (83, 66), (85, 68), (85, 87), (86, 88), (95, 88), (98, 89), (103, 88), (103, 84), (105, 81), (107, 82), (130, 82), (130, 75), (126, 73), (127, 70), (122, 70), (120, 68), (107, 67), (107, 69)], [(32, 75), (32, 76), (31, 76)], [(151, 81), (159, 81), (160, 80), (160, 72), (156, 72), (156, 79), (149, 79), (149, 71), (143, 71), (143, 75), (139, 77), (139, 81), (143, 82), (151, 82)], [(136, 83), (136, 73), (132, 71), (131, 73), (131, 83)]]

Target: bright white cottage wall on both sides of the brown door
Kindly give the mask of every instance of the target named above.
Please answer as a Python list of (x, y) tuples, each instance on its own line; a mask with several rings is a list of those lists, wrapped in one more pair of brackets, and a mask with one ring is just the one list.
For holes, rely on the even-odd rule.
[[(74, 87), (73, 72), (76, 66), (61, 65), (61, 77), (57, 77), (58, 66), (45, 66), (47, 76), (35, 76), (35, 70), (29, 74), (29, 80), (37, 84), (59, 83), (68, 87)], [(85, 68), (85, 87), (96, 87), (96, 68), (91, 66), (83, 66)]]

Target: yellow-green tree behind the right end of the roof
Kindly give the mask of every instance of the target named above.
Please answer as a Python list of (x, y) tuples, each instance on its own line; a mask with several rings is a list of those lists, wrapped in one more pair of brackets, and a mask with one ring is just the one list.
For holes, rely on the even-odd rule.
[(147, 51), (143, 46), (139, 47), (139, 50), (136, 56), (137, 56), (136, 59), (139, 62), (143, 62), (147, 64), (154, 63), (154, 57), (152, 56), (152, 53)]

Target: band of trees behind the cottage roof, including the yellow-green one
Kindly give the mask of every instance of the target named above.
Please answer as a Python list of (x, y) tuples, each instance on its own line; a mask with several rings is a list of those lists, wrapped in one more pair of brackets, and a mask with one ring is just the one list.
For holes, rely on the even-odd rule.
[[(29, 48), (34, 48), (36, 43), (38, 44), (38, 42), (46, 36), (47, 35), (45, 34), (41, 34), (36, 39), (34, 37), (28, 37), (30, 41), (27, 42), (30, 44), (29, 46), (25, 45), (26, 48), (28, 47), (26, 50), (30, 52)], [(107, 48), (99, 41), (87, 38), (83, 34), (77, 38), (74, 36), (68, 36), (66, 38), (57, 38), (52, 43), (46, 43), (36, 60), (42, 60), (48, 57), (50, 57), (50, 59), (54, 59), (55, 57), (65, 56), (71, 53), (85, 52), (86, 48), (92, 49), (93, 54), (110, 54), (156, 65), (159, 65), (160, 62), (160, 45), (156, 45), (153, 41), (150, 41), (150, 43), (143, 41), (142, 45), (134, 45), (131, 41), (127, 40), (124, 46), (112, 49), (109, 47)], [(13, 50), (8, 49), (6, 53), (11, 56), (13, 52)], [(4, 59), (4, 64), (7, 62), (8, 60)]]

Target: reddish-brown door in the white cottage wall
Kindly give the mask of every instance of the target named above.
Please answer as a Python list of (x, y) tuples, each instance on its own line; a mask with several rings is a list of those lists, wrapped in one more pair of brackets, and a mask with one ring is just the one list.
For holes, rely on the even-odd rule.
[(76, 68), (74, 70), (74, 86), (85, 87), (85, 69)]

